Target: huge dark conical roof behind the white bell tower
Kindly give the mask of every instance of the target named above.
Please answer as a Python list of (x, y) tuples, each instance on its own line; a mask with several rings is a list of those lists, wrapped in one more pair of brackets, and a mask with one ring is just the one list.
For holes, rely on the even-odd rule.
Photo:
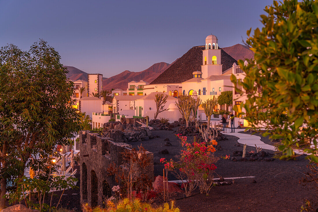
[[(204, 48), (205, 46), (192, 47), (150, 84), (181, 83), (193, 78), (192, 72), (201, 71)], [(237, 61), (221, 49), (222, 71), (231, 68), (233, 63), (237, 64)]]

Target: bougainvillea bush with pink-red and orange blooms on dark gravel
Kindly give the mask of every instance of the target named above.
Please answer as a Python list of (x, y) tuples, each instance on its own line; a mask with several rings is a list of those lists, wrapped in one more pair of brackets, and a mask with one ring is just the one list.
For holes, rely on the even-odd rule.
[(219, 160), (214, 155), (215, 148), (218, 143), (211, 141), (211, 145), (205, 142), (198, 142), (194, 137), (193, 143), (187, 142), (186, 136), (176, 135), (181, 142), (183, 149), (177, 156), (178, 162), (172, 160), (161, 162), (165, 163), (165, 168), (173, 170), (176, 177), (183, 181), (186, 196), (190, 196), (191, 192), (199, 187), (201, 193), (209, 194), (213, 185), (213, 175), (215, 173), (215, 163)]

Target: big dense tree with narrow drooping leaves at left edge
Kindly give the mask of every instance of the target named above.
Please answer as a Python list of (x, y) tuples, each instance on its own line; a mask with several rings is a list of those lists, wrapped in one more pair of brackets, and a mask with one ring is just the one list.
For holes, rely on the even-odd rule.
[[(74, 84), (66, 73), (58, 52), (43, 40), (29, 51), (13, 44), (0, 48), (1, 197), (9, 179), (22, 181), (28, 166), (46, 170), (56, 145), (66, 144), (79, 131), (71, 98)], [(0, 198), (0, 209), (5, 201)]]

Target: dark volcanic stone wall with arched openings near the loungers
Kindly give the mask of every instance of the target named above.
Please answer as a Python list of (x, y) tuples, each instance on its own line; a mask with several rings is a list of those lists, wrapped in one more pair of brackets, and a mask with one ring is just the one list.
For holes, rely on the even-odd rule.
[[(107, 167), (113, 162), (120, 165), (123, 161), (121, 153), (131, 150), (127, 143), (114, 142), (97, 133), (81, 131), (80, 145), (80, 202), (90, 206), (102, 206), (104, 198), (111, 195), (111, 188), (117, 183), (114, 176), (107, 176)], [(148, 177), (154, 180), (154, 155), (147, 152), (150, 165), (145, 169)]]

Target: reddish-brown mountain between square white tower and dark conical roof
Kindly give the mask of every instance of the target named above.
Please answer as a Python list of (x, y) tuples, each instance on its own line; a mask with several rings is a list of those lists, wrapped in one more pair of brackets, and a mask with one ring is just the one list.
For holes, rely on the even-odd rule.
[[(178, 59), (176, 59), (176, 61), (177, 60)], [(173, 63), (175, 63), (176, 61), (174, 61)], [(120, 74), (103, 80), (103, 90), (111, 90), (112, 88), (125, 89), (128, 86), (128, 82), (131, 82), (132, 80), (143, 80), (146, 82), (152, 82), (173, 63), (155, 63), (154, 65), (141, 72), (130, 72), (126, 70), (124, 72), (121, 72)]]

